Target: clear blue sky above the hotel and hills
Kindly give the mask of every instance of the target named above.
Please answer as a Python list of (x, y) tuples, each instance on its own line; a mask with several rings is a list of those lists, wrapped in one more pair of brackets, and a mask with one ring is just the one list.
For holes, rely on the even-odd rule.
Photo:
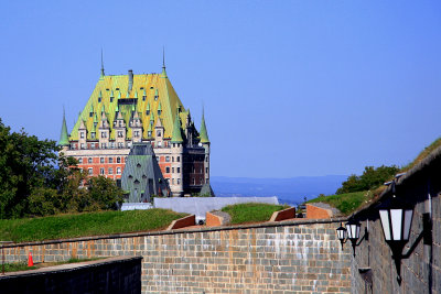
[(441, 135), (440, 1), (7, 1), (0, 118), (57, 140), (99, 77), (161, 70), (212, 175), (361, 173)]

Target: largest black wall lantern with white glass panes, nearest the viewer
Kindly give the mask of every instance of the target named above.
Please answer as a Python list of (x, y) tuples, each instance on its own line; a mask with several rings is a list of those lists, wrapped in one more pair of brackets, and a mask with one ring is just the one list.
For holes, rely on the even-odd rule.
[(402, 249), (409, 241), (413, 207), (407, 205), (404, 200), (398, 200), (395, 195), (395, 182), (391, 185), (392, 198), (379, 208), (379, 218), (386, 243), (392, 251), (398, 283), (401, 283)]

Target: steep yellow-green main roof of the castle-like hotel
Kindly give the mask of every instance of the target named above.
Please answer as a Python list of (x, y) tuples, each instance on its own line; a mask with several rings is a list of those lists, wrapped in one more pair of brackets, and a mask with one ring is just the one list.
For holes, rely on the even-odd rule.
[[(142, 97), (136, 99), (138, 90), (146, 91), (146, 100)], [(118, 98), (110, 101), (110, 97), (115, 96)], [(158, 99), (154, 99), (154, 96), (158, 96)], [(133, 105), (133, 102), (136, 104)], [(161, 109), (160, 116), (158, 116), (159, 107)], [(151, 119), (154, 126), (154, 122), (161, 118), (162, 126), (164, 127), (164, 138), (172, 137), (178, 108), (181, 109), (181, 119), (187, 113), (171, 85), (165, 70), (161, 74), (133, 75), (133, 84), (130, 91), (128, 75), (104, 76), (99, 78), (78, 121), (75, 123), (71, 132), (71, 140), (78, 140), (80, 120), (84, 120), (89, 131), (87, 139), (92, 139), (90, 130), (94, 126), (94, 117), (103, 108), (106, 110), (109, 121), (110, 139), (115, 139), (116, 137), (112, 121), (118, 112), (117, 110), (121, 111), (126, 124), (129, 126), (128, 122), (132, 116), (132, 108), (135, 108), (140, 115), (143, 130), (148, 130)], [(146, 110), (150, 110), (150, 113), (147, 115)], [(131, 139), (131, 129), (128, 128), (127, 138)], [(142, 135), (144, 139), (148, 138), (147, 132), (143, 132)], [(154, 135), (153, 133), (152, 137), (154, 138)]]

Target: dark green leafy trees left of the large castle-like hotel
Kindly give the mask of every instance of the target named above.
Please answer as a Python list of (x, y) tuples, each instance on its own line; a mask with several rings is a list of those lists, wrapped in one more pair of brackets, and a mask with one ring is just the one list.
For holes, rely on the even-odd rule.
[(116, 182), (87, 178), (58, 151), (54, 141), (11, 132), (0, 120), (0, 218), (117, 209)]

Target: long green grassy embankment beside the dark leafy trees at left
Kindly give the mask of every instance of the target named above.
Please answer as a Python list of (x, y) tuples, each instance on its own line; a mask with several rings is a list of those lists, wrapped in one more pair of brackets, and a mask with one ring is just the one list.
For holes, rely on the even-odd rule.
[(160, 230), (186, 215), (166, 209), (149, 209), (0, 219), (0, 240), (25, 242)]

